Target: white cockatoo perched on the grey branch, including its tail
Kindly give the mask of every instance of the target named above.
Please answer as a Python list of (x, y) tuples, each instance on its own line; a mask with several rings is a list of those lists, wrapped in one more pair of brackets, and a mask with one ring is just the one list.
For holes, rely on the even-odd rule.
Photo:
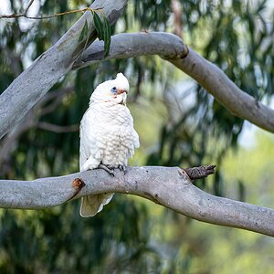
[[(80, 122), (79, 168), (86, 171), (103, 168), (109, 172), (125, 170), (139, 136), (133, 128), (132, 114), (126, 107), (130, 85), (122, 73), (101, 83), (91, 94), (90, 107)], [(113, 194), (88, 195), (81, 198), (80, 216), (95, 216)]]

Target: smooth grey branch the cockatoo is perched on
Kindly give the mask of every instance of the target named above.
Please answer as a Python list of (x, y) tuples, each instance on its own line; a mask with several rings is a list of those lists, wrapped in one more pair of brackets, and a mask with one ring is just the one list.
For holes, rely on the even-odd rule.
[[(75, 181), (85, 185), (75, 188)], [(103, 170), (92, 170), (35, 181), (0, 180), (0, 206), (46, 208), (108, 192), (139, 195), (202, 222), (274, 237), (274, 210), (209, 195), (195, 187), (178, 167), (130, 167), (125, 175), (116, 170), (115, 177)]]

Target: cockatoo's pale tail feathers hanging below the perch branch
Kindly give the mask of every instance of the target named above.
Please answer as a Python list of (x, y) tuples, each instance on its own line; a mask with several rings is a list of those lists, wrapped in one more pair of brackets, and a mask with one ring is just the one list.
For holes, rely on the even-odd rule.
[(88, 195), (81, 198), (80, 216), (89, 217), (99, 213), (104, 205), (110, 203), (114, 193)]

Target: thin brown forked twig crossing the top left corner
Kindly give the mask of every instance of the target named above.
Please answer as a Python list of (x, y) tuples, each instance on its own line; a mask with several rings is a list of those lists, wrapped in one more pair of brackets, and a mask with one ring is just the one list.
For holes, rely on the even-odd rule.
[(94, 12), (95, 10), (98, 10), (100, 11), (102, 9), (102, 7), (97, 7), (97, 8), (90, 8), (90, 7), (85, 7), (85, 8), (82, 8), (82, 9), (76, 9), (76, 10), (69, 10), (69, 11), (66, 11), (64, 13), (58, 13), (56, 15), (51, 15), (51, 16), (26, 16), (26, 12), (28, 11), (30, 5), (32, 4), (34, 0), (31, 0), (31, 2), (27, 5), (26, 7), (26, 10), (24, 13), (21, 13), (21, 14), (12, 14), (12, 15), (3, 15), (3, 16), (0, 16), (0, 19), (1, 18), (18, 18), (18, 17), (25, 17), (27, 19), (36, 19), (36, 20), (42, 20), (42, 19), (49, 19), (49, 18), (53, 18), (53, 17), (57, 17), (57, 16), (66, 16), (66, 15), (69, 15), (69, 14), (75, 14), (75, 13), (80, 13), (80, 12), (86, 12), (86, 11), (90, 11), (90, 12)]

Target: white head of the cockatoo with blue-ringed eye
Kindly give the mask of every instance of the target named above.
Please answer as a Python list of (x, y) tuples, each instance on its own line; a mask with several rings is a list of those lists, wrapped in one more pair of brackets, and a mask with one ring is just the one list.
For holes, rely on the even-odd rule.
[(105, 81), (97, 86), (91, 94), (90, 103), (104, 101), (125, 105), (129, 90), (128, 79), (122, 73), (118, 73), (116, 79)]

